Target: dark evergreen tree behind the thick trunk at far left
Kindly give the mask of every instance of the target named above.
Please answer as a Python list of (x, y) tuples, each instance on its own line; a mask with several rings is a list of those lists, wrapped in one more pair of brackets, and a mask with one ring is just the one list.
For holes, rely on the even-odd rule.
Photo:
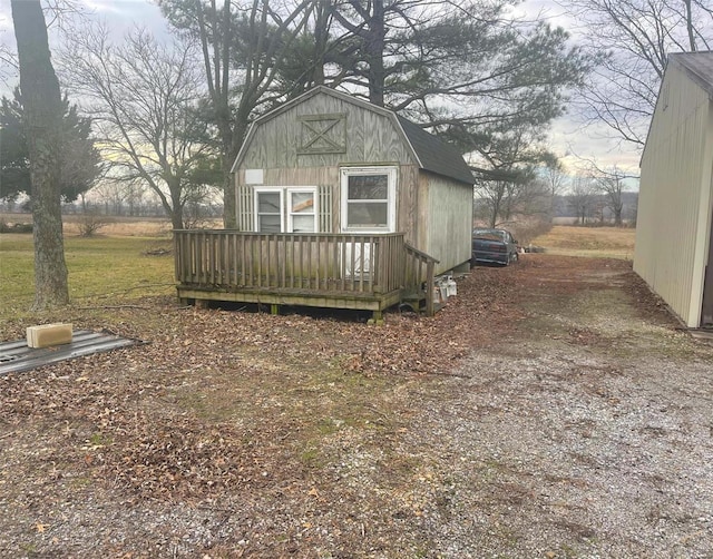
[[(31, 196), (28, 141), (23, 128), (22, 97), (16, 89), (13, 99), (0, 105), (0, 199), (14, 199), (21, 193)], [(87, 192), (101, 173), (99, 151), (94, 145), (91, 120), (77, 112), (67, 96), (62, 99), (61, 120), (62, 202), (74, 202)]]

